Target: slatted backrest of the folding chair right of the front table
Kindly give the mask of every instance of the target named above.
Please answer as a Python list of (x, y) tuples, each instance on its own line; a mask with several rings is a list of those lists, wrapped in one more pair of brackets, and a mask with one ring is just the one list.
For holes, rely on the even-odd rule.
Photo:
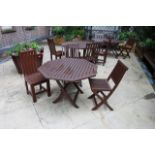
[(118, 86), (127, 70), (128, 67), (126, 67), (120, 60), (118, 60), (116, 66), (108, 77), (108, 81), (112, 79), (115, 84), (113, 90)]

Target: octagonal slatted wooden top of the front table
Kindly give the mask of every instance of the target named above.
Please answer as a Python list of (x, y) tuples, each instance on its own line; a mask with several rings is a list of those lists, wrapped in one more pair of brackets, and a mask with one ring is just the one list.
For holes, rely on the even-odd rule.
[(48, 79), (73, 82), (95, 76), (97, 66), (84, 59), (64, 58), (48, 61), (38, 71)]

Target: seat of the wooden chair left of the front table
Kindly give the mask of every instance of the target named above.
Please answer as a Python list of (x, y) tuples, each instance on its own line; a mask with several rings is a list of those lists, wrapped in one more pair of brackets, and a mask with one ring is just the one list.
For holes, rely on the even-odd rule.
[(47, 81), (47, 79), (45, 79), (41, 73), (39, 72), (36, 72), (36, 73), (33, 73), (31, 75), (26, 75), (25, 76), (25, 80), (29, 83), (29, 84), (39, 84), (41, 82), (45, 82)]

